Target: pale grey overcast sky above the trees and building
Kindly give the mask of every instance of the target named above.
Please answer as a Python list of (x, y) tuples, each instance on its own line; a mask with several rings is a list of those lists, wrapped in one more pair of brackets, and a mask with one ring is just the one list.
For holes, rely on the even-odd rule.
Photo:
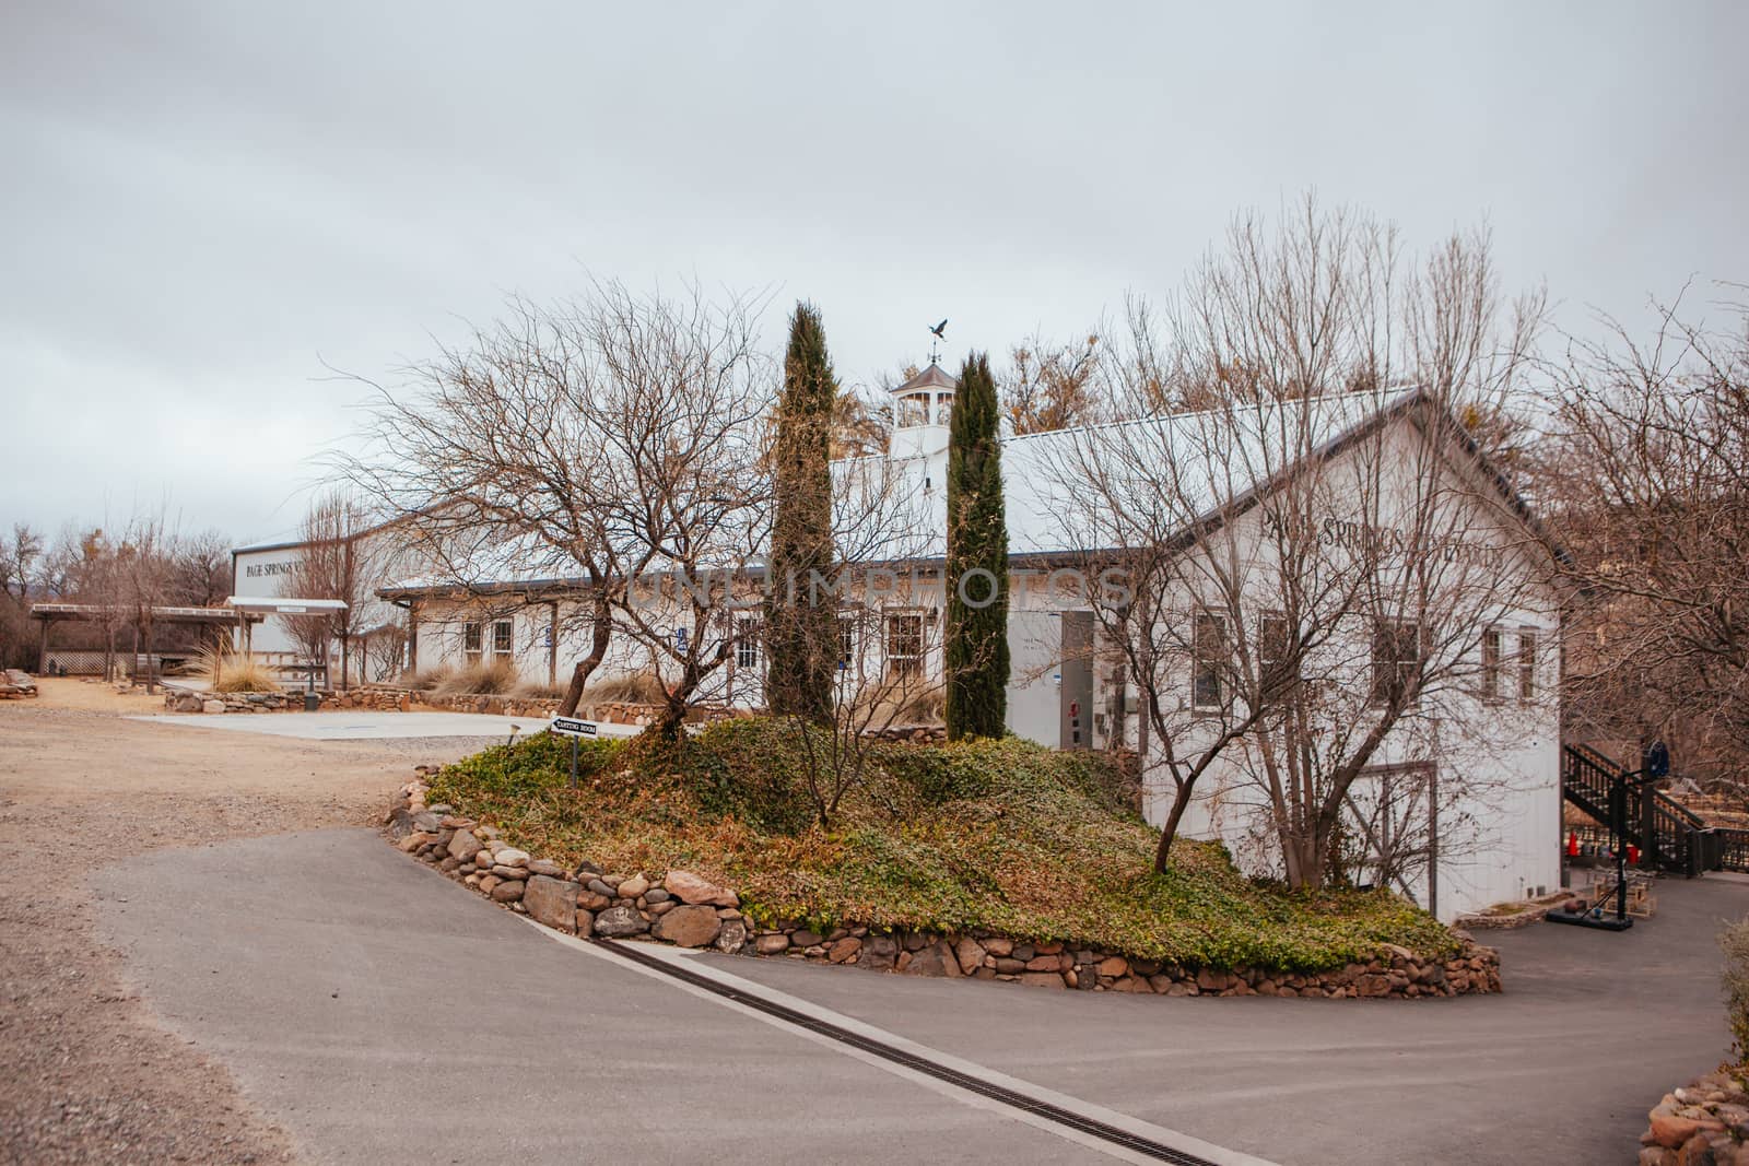
[[(504, 295), (798, 297), (874, 379), (1161, 294), (1315, 187), (1558, 320), (1749, 280), (1749, 5), (0, 3), (0, 523), (297, 523)], [(775, 341), (773, 341), (775, 343)]]

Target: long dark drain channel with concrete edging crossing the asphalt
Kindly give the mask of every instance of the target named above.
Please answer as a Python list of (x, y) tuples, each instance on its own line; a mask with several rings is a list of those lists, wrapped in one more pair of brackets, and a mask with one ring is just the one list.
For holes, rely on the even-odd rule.
[(596, 939), (593, 939), (589, 942), (596, 944), (598, 947), (605, 947), (605, 949), (612, 951), (616, 956), (619, 956), (623, 960), (631, 960), (633, 963), (638, 963), (638, 965), (642, 965), (645, 968), (651, 968), (654, 972), (661, 972), (663, 975), (666, 975), (670, 979), (677, 979), (680, 982), (691, 984), (693, 988), (701, 988), (703, 991), (708, 991), (708, 993), (712, 993), (715, 996), (722, 996), (726, 1000), (733, 1000), (735, 1003), (740, 1003), (743, 1007), (754, 1009), (757, 1012), (764, 1012), (766, 1016), (773, 1016), (773, 1017), (777, 1017), (777, 1019), (780, 1019), (780, 1021), (784, 1021), (787, 1024), (794, 1024), (798, 1028), (806, 1028), (808, 1031), (817, 1033), (820, 1037), (826, 1037), (829, 1040), (836, 1040), (840, 1044), (850, 1045), (852, 1049), (861, 1049), (862, 1052), (868, 1052), (871, 1056), (878, 1056), (878, 1058), (881, 1058), (885, 1061), (892, 1061), (894, 1065), (902, 1065), (904, 1068), (909, 1068), (909, 1070), (913, 1070), (916, 1073), (925, 1073), (929, 1077), (934, 1077), (936, 1080), (943, 1080), (943, 1082), (948, 1082), (950, 1086), (957, 1086), (957, 1087), (965, 1089), (969, 1093), (976, 1093), (976, 1094), (979, 1094), (983, 1098), (990, 1098), (992, 1101), (999, 1101), (1002, 1105), (1009, 1105), (1009, 1107), (1013, 1107), (1016, 1110), (1023, 1110), (1023, 1112), (1032, 1114), (1035, 1117), (1042, 1117), (1046, 1121), (1056, 1122), (1058, 1126), (1067, 1126), (1069, 1129), (1074, 1129), (1077, 1133), (1088, 1135), (1091, 1138), (1098, 1138), (1100, 1142), (1109, 1142), (1109, 1143), (1112, 1143), (1116, 1147), (1123, 1147), (1123, 1149), (1130, 1150), (1132, 1154), (1140, 1154), (1140, 1156), (1151, 1157), (1151, 1159), (1154, 1159), (1158, 1163), (1174, 1163), (1174, 1166), (1217, 1166), (1216, 1163), (1209, 1161), (1207, 1157), (1198, 1157), (1195, 1154), (1188, 1154), (1184, 1150), (1179, 1150), (1179, 1149), (1174, 1149), (1170, 1145), (1165, 1145), (1163, 1142), (1154, 1142), (1153, 1138), (1144, 1138), (1142, 1135), (1130, 1133), (1128, 1129), (1119, 1129), (1118, 1126), (1102, 1122), (1102, 1121), (1088, 1117), (1084, 1114), (1076, 1114), (1074, 1110), (1063, 1108), (1060, 1105), (1051, 1105), (1049, 1101), (1041, 1101), (1037, 1098), (1028, 1098), (1025, 1093), (1020, 1093), (1018, 1089), (1009, 1089), (1007, 1086), (999, 1086), (999, 1084), (995, 1084), (992, 1080), (985, 1080), (985, 1079), (976, 1077), (972, 1073), (962, 1073), (957, 1068), (948, 1068), (946, 1065), (937, 1065), (936, 1061), (930, 1061), (929, 1058), (922, 1058), (922, 1056), (916, 1056), (913, 1052), (906, 1052), (904, 1049), (895, 1049), (890, 1044), (885, 1044), (881, 1040), (874, 1040), (873, 1037), (864, 1037), (862, 1033), (855, 1033), (855, 1031), (850, 1031), (848, 1028), (841, 1028), (841, 1026), (833, 1024), (829, 1021), (822, 1021), (819, 1017), (808, 1016), (806, 1012), (801, 1012), (798, 1009), (791, 1009), (789, 1005), (778, 1003), (775, 1000), (766, 1000), (764, 996), (761, 996), (757, 993), (742, 991), (740, 988), (735, 988), (733, 984), (724, 984), (724, 982), (715, 981), (715, 979), (712, 979), (708, 975), (700, 975), (698, 972), (693, 972), (691, 968), (677, 967), (677, 965), (670, 963), (668, 960), (659, 960), (656, 956), (651, 956), (651, 954), (645, 954), (642, 951), (637, 951), (630, 944), (617, 944), (617, 942), (614, 942), (610, 939), (600, 939), (600, 937), (596, 937)]

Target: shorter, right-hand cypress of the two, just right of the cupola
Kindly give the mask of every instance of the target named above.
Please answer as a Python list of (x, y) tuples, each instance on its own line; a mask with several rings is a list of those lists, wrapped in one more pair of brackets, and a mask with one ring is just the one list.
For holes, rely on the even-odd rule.
[[(983, 353), (960, 369), (948, 427), (948, 736), (1007, 722), (1007, 514), (995, 379)], [(967, 601), (969, 600), (969, 601)]]

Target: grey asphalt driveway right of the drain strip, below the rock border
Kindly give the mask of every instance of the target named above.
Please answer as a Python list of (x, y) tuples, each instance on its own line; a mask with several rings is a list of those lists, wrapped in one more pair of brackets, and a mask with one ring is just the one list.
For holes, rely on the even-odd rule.
[(1109, 1108), (1282, 1163), (1632, 1161), (1646, 1110), (1730, 1052), (1719, 923), (1740, 876), (1660, 881), (1609, 933), (1481, 932), (1506, 993), (1158, 1000), (874, 975), (736, 974)]

